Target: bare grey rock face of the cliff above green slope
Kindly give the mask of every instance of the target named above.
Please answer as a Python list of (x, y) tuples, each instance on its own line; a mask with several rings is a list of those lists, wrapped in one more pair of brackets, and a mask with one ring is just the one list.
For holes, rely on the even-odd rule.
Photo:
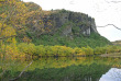
[[(50, 33), (54, 33), (62, 27), (63, 35), (75, 33), (89, 36), (92, 32), (98, 33), (95, 24), (95, 19), (79, 12), (54, 10), (51, 11), (50, 14), (46, 14), (43, 18), (41, 18), (40, 15), (38, 18), (36, 18), (36, 20), (33, 21), (37, 21), (35, 25), (31, 24), (33, 28), (43, 27), (45, 31), (51, 30)], [(37, 31), (38, 30), (41, 28), (37, 28)]]

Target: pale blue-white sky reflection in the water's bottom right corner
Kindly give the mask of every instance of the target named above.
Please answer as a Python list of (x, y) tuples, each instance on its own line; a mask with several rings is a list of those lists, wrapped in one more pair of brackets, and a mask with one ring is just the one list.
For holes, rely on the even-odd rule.
[(111, 68), (99, 81), (121, 81), (121, 69)]

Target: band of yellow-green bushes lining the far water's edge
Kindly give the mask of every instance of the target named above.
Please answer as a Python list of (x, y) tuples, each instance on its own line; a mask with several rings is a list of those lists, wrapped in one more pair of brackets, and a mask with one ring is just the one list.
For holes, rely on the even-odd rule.
[[(6, 58), (33, 58), (33, 57), (80, 57), (102, 54), (121, 53), (120, 46), (107, 45), (103, 47), (67, 47), (67, 46), (44, 46), (32, 43), (20, 43), (1, 45), (0, 56)], [(117, 54), (116, 54), (117, 55)]]

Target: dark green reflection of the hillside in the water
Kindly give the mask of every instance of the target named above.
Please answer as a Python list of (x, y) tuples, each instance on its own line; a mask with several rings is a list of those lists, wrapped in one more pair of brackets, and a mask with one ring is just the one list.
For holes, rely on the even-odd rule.
[[(69, 66), (66, 68), (45, 68), (28, 71), (21, 80), (29, 81), (99, 81), (101, 76), (110, 69), (106, 65), (91, 63), (89, 66)], [(20, 81), (21, 81), (20, 80)]]

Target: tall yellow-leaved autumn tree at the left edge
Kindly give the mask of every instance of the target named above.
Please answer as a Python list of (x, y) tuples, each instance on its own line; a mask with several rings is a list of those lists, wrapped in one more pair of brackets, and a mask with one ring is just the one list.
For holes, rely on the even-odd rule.
[[(2, 18), (0, 21), (0, 45), (2, 48), (1, 50), (4, 50), (1, 53), (4, 57), (4, 53), (8, 53), (10, 48), (13, 48), (13, 50), (16, 51), (15, 36), (19, 31), (18, 24), (25, 23), (24, 19), (21, 16), (25, 13), (26, 9), (24, 3), (19, 0), (6, 0), (0, 7), (3, 11), (0, 13), (0, 16)], [(9, 46), (12, 44), (13, 46), (9, 47), (7, 44), (9, 44)]]

